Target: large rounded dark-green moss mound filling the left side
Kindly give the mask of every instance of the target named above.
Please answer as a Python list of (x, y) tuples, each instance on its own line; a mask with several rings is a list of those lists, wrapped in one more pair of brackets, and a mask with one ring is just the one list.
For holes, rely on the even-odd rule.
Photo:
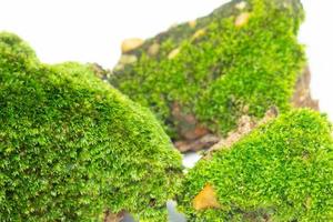
[(87, 65), (42, 64), (0, 33), (1, 221), (165, 216), (180, 154), (145, 109)]

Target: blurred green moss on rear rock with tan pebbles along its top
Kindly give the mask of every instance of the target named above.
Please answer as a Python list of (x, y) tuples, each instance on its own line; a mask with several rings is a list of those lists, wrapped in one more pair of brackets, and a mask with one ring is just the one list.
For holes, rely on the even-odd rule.
[(290, 109), (304, 65), (296, 40), (302, 20), (299, 0), (234, 0), (128, 52), (110, 82), (150, 107), (173, 138), (184, 124), (175, 105), (225, 134), (243, 114), (261, 118), (272, 105)]

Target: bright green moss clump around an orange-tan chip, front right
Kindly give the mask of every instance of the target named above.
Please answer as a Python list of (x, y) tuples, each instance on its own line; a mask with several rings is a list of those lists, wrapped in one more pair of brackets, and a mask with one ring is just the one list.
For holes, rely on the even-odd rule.
[[(201, 160), (186, 174), (180, 209), (191, 221), (332, 221), (332, 160), (326, 118), (292, 111)], [(219, 205), (194, 210), (206, 185)]]

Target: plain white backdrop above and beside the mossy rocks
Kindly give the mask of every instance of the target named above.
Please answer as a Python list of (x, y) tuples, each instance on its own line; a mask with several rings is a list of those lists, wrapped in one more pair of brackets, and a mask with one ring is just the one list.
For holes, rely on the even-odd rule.
[[(112, 68), (124, 38), (148, 38), (210, 13), (226, 0), (0, 0), (0, 31), (26, 39), (43, 62), (75, 60)], [(303, 0), (312, 90), (333, 118), (333, 1)]]

